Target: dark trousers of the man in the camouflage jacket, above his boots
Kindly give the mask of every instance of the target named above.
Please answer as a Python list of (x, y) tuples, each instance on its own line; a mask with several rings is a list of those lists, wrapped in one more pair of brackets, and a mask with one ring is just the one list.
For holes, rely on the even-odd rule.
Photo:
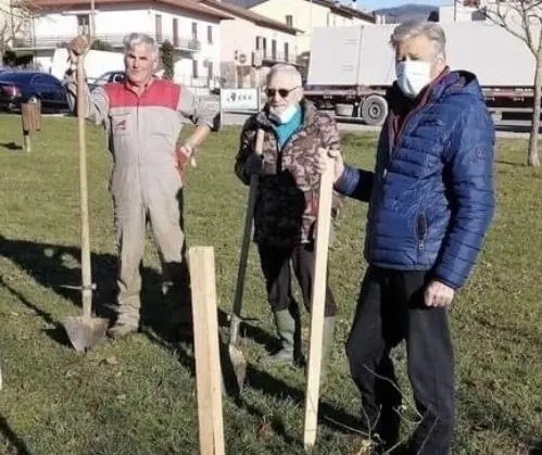
[[(307, 312), (311, 312), (313, 300), (314, 280), (314, 243), (303, 243), (293, 249), (278, 249), (259, 244), (262, 270), (265, 276), (267, 300), (274, 313), (282, 309), (292, 311), (295, 316), (297, 303), (292, 296), (291, 268), (298, 279), (303, 295), (303, 303)], [(326, 287), (325, 315), (335, 316), (337, 312), (333, 294)]]

